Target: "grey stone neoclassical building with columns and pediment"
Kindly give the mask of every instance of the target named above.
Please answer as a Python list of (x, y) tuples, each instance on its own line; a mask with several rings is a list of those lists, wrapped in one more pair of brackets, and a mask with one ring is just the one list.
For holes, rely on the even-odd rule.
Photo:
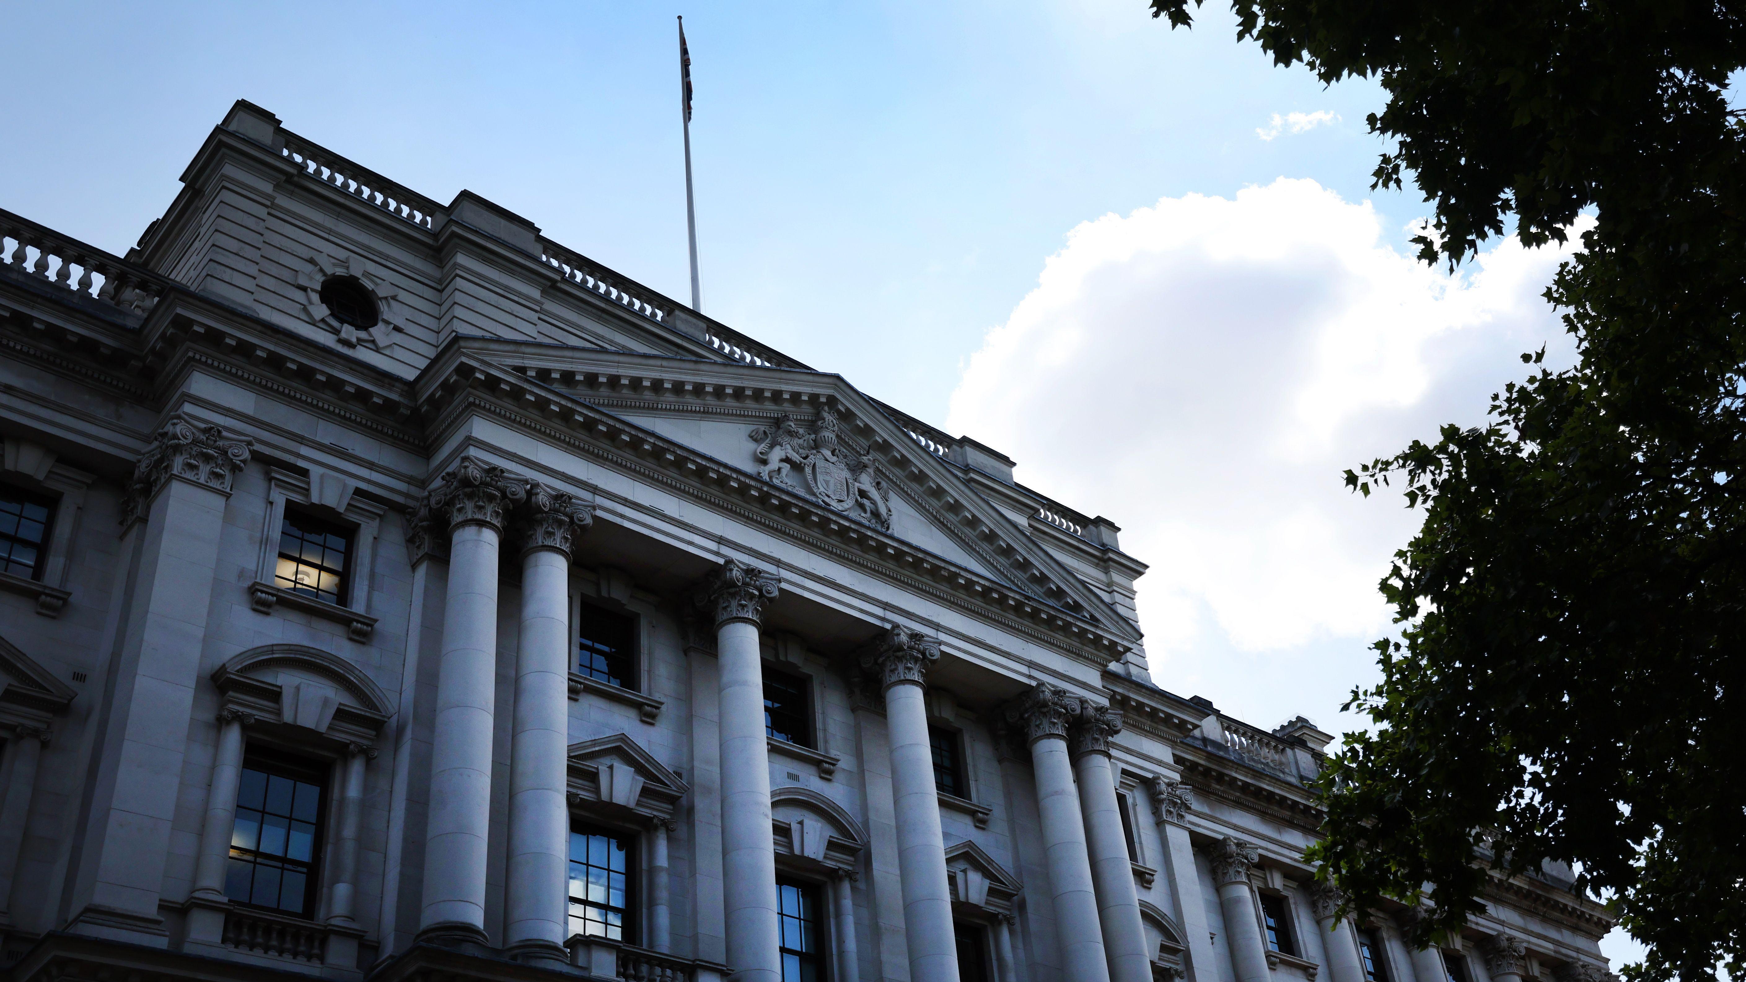
[(0, 211), (10, 979), (1605, 977), (1557, 872), (1336, 919), (1329, 734), (999, 451), (248, 103), (182, 185)]

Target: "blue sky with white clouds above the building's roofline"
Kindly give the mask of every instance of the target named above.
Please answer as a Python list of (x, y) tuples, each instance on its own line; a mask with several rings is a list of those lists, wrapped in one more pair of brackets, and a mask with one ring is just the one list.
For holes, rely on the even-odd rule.
[(1568, 353), (1557, 257), (1416, 267), (1419, 196), (1369, 190), (1379, 89), (1271, 66), (1217, 5), (14, 0), (0, 204), (122, 252), (246, 98), (683, 299), (674, 14), (704, 309), (1121, 524), (1166, 688), (1357, 725), (1414, 522), (1339, 472)]

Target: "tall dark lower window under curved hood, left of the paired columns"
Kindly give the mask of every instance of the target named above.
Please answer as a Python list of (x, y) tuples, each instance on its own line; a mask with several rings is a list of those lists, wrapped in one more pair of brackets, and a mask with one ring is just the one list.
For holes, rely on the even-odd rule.
[(243, 764), (225, 896), (299, 917), (314, 914), (321, 785), (307, 764), (258, 757)]

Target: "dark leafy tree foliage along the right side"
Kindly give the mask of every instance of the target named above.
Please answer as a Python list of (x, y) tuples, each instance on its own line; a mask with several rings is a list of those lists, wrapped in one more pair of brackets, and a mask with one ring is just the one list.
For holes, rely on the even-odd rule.
[(1428, 884), (1419, 942), (1481, 910), (1488, 877), (1556, 860), (1648, 945), (1634, 982), (1746, 977), (1739, 7), (1233, 3), (1278, 65), (1381, 84), (1374, 178), (1433, 204), (1425, 260), (1596, 218), (1547, 290), (1577, 365), (1524, 355), (1484, 428), (1346, 474), (1425, 522), (1381, 584), (1399, 641), (1348, 704), (1376, 727), (1322, 778), (1313, 856), (1360, 910)]

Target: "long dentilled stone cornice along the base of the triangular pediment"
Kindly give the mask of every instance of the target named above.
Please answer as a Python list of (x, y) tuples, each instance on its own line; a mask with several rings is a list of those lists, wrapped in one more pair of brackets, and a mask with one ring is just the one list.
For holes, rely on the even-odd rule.
[[(585, 414), (555, 402), (548, 402), (543, 409), (546, 412), (536, 418), (510, 409), (485, 393), (449, 391), (440, 412), (426, 425), (430, 433), (436, 435), (449, 432), (468, 414), (491, 414), (1084, 664), (1103, 667), (1128, 650), (1121, 640), (1051, 608), (1046, 601), (959, 570), (948, 559), (828, 512), (814, 501), (702, 458), (655, 433), (641, 432), (606, 414)], [(576, 435), (576, 430), (587, 437)]]

